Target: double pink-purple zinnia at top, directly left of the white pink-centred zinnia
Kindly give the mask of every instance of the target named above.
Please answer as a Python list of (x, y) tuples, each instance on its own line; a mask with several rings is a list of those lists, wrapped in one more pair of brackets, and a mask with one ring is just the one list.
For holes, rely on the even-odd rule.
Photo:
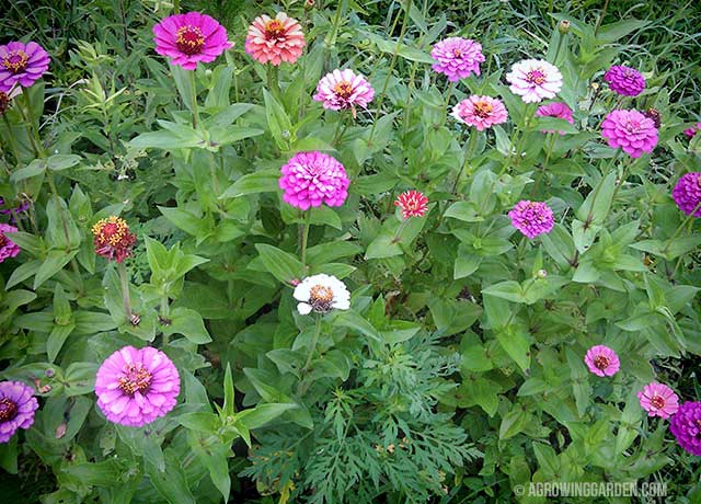
[(472, 73), (479, 76), (480, 64), (484, 62), (482, 45), (461, 37), (440, 41), (430, 51), (430, 57), (436, 60), (432, 68), (445, 75), (451, 82), (470, 77)]

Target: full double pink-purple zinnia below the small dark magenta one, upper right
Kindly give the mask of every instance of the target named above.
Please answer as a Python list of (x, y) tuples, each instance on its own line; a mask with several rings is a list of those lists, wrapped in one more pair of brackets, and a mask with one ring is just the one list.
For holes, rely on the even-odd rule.
[(637, 111), (610, 112), (601, 123), (601, 136), (610, 147), (620, 147), (632, 158), (652, 152), (657, 145), (655, 122)]

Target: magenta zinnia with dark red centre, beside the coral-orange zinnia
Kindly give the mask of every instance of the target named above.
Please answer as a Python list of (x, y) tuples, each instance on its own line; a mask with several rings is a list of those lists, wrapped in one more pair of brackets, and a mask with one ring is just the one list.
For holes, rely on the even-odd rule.
[(153, 26), (153, 35), (156, 51), (185, 70), (194, 70), (198, 61), (214, 61), (233, 46), (226, 28), (199, 12), (169, 15)]

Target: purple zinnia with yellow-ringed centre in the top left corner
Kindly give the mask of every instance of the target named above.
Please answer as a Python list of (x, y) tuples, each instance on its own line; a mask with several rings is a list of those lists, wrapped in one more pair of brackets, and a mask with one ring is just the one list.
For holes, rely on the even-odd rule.
[(10, 91), (18, 82), (31, 87), (48, 69), (48, 53), (36, 42), (0, 46), (0, 91)]

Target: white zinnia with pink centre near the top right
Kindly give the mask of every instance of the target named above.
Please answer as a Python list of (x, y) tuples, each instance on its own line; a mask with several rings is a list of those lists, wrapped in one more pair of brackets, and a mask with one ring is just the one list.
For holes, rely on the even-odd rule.
[(512, 93), (526, 103), (537, 103), (555, 98), (562, 89), (562, 73), (544, 59), (524, 59), (514, 64), (506, 75)]

